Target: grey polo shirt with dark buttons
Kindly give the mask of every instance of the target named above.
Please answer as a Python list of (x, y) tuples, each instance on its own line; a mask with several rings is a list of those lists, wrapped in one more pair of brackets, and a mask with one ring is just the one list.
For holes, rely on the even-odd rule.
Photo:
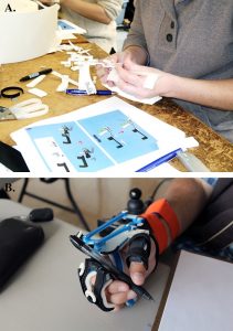
[[(233, 78), (233, 0), (137, 0), (128, 45), (145, 47), (165, 72)], [(176, 102), (233, 142), (233, 111)]]

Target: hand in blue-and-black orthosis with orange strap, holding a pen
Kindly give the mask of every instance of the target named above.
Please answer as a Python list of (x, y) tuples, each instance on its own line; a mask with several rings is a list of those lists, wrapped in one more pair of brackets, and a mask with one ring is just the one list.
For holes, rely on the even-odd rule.
[(136, 213), (121, 212), (85, 235), (71, 236), (73, 245), (89, 257), (78, 268), (83, 292), (104, 311), (133, 306), (140, 297), (152, 299), (141, 286), (168, 246), (166, 227), (170, 226), (172, 237), (179, 233), (177, 216), (165, 199)]

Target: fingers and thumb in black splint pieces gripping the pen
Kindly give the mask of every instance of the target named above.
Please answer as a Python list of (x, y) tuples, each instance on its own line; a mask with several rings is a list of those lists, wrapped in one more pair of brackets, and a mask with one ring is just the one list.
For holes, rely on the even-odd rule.
[[(113, 245), (108, 247), (109, 254), (103, 253), (103, 258), (108, 263), (110, 259), (116, 268), (129, 275), (136, 285), (141, 286), (157, 265), (158, 245), (147, 229), (134, 234), (127, 242), (126, 238), (121, 238), (121, 244), (112, 243)], [(78, 277), (85, 297), (104, 311), (118, 310), (124, 305), (131, 303), (127, 302), (128, 300), (137, 297), (128, 284), (116, 280), (115, 271), (112, 274), (94, 258), (86, 258), (80, 265)]]

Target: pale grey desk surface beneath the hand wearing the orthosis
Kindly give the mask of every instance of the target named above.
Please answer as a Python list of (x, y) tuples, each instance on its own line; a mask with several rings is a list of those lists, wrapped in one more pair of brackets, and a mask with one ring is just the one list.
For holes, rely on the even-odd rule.
[[(0, 200), (0, 220), (28, 215), (29, 209)], [(134, 308), (106, 313), (84, 298), (77, 267), (84, 255), (68, 236), (77, 228), (60, 220), (42, 224), (45, 242), (0, 293), (2, 331), (149, 331), (169, 275), (159, 265), (147, 290), (155, 302), (139, 300)]]

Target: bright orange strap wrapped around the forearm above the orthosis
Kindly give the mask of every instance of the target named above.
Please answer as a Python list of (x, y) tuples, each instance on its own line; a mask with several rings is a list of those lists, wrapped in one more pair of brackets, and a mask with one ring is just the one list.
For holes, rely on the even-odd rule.
[(141, 217), (148, 221), (150, 228), (158, 242), (159, 253), (161, 254), (168, 247), (168, 233), (165, 224), (157, 215), (160, 215), (168, 224), (172, 241), (179, 235), (180, 225), (174, 211), (166, 199), (160, 199), (151, 203), (146, 212), (141, 215)]

